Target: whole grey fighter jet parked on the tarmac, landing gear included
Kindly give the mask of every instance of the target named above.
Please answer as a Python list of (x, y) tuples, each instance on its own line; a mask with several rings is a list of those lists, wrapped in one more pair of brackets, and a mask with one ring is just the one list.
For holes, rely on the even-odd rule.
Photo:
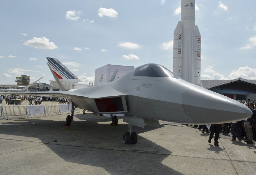
[[(188, 83), (158, 64), (145, 64), (119, 79), (100, 86), (62, 92), (27, 92), (41, 96), (63, 96), (76, 107), (95, 113), (125, 114), (129, 132), (125, 144), (136, 144), (132, 125), (159, 126), (158, 120), (178, 123), (229, 123), (251, 117), (251, 110), (236, 100)], [(18, 94), (27, 94), (20, 93)], [(113, 116), (113, 122), (117, 122)]]

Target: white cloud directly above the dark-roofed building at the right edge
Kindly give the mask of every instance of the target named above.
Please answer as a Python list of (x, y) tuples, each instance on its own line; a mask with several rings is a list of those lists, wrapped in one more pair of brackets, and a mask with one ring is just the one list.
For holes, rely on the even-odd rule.
[(246, 67), (239, 67), (238, 70), (234, 70), (229, 74), (231, 79), (244, 78), (244, 79), (256, 79), (256, 69)]

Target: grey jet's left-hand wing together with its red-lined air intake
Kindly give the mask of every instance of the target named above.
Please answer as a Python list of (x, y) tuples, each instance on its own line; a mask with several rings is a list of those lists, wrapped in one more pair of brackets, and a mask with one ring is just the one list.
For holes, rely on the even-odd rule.
[[(0, 94), (5, 94), (0, 92)], [(11, 95), (65, 97), (76, 107), (96, 113), (126, 113), (125, 95), (109, 86), (94, 86), (75, 91), (10, 92)]]

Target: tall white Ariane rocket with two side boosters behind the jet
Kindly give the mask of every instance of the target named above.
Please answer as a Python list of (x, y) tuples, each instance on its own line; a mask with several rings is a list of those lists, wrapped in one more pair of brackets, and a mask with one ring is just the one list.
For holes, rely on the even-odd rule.
[(202, 86), (201, 34), (195, 25), (195, 0), (181, 0), (181, 21), (174, 30), (173, 73)]

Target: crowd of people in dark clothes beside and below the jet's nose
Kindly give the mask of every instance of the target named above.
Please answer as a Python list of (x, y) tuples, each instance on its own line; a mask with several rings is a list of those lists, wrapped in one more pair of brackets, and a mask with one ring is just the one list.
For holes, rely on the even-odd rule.
[(218, 139), (220, 132), (231, 132), (232, 138), (229, 139), (230, 141), (244, 141), (247, 144), (254, 144), (254, 141), (256, 141), (256, 101), (253, 101), (253, 103), (246, 103), (241, 101), (241, 103), (246, 105), (253, 112), (250, 118), (241, 121), (234, 121), (232, 123), (195, 125), (194, 127), (198, 127), (198, 129), (201, 130), (203, 134), (205, 131), (206, 133), (209, 133), (210, 130), (208, 142), (211, 143), (213, 135), (215, 135), (215, 146), (219, 146)]

